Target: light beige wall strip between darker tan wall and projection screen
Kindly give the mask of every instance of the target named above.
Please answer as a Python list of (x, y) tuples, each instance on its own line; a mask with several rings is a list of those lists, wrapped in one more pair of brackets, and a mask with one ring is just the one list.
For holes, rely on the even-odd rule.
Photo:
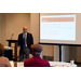
[(33, 36), (33, 43), (39, 42), (39, 13), (30, 13), (30, 32)]

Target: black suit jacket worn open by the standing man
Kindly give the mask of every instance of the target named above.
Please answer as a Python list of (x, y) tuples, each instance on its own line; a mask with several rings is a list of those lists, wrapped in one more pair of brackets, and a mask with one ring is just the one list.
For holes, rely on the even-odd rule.
[[(18, 35), (18, 46), (21, 46), (21, 51), (23, 50), (24, 39), (23, 33)], [(31, 52), (30, 45), (33, 44), (33, 38), (32, 35), (27, 32), (27, 46)]]

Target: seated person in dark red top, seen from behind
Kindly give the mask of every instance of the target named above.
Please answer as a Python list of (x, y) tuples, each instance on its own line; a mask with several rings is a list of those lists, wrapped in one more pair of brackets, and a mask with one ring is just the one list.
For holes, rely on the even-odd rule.
[(30, 48), (33, 56), (24, 60), (24, 67), (50, 67), (49, 62), (40, 57), (42, 46), (40, 44), (32, 44)]

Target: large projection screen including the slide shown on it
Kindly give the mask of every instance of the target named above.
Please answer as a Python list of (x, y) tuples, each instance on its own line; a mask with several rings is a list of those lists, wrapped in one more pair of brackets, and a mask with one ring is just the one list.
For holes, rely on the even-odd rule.
[(40, 43), (81, 45), (81, 13), (40, 13)]

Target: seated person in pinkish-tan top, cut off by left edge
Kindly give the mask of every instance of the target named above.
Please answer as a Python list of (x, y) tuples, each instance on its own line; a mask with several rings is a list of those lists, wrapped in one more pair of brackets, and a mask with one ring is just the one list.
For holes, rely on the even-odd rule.
[(4, 46), (0, 43), (0, 67), (11, 67), (9, 58), (4, 57)]

